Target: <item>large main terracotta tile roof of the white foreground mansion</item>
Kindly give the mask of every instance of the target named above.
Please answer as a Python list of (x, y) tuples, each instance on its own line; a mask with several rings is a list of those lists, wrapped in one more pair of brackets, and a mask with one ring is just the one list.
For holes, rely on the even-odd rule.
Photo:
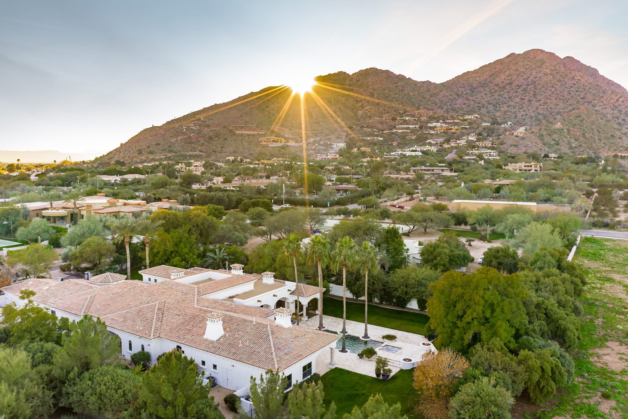
[[(203, 298), (197, 295), (199, 288), (174, 281), (94, 285), (80, 279), (55, 283), (33, 279), (3, 290), (31, 289), (37, 293), (33, 301), (51, 308), (99, 316), (117, 330), (149, 339), (161, 337), (262, 369), (283, 370), (337, 338), (308, 328), (275, 325), (267, 318), (274, 315), (273, 310)], [(203, 337), (211, 313), (222, 316), (225, 332), (216, 341)]]

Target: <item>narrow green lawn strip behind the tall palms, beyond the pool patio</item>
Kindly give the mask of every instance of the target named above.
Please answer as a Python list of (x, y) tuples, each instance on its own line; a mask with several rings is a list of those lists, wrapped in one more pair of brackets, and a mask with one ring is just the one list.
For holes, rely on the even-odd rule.
[[(325, 297), (323, 314), (342, 318), (342, 300)], [(347, 301), (347, 320), (364, 323), (364, 304)], [(413, 311), (394, 310), (369, 304), (369, 325), (388, 327), (403, 332), (425, 334), (425, 324), (430, 317)]]

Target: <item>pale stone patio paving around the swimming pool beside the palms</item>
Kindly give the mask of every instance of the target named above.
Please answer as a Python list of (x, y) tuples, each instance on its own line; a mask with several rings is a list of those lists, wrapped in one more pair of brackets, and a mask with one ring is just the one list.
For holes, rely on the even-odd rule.
[[(301, 323), (304, 327), (317, 328), (318, 327), (318, 315), (308, 318), (308, 320)], [(340, 332), (342, 330), (342, 318), (323, 316), (323, 326), (328, 330), (334, 330)], [(350, 335), (362, 337), (364, 336), (364, 323), (359, 321), (347, 320), (347, 333)], [(394, 342), (384, 340), (383, 335), (395, 335), (397, 340)], [(376, 348), (377, 355), (385, 357), (389, 360), (389, 368), (393, 370), (391, 376), (393, 376), (400, 369), (400, 361), (403, 358), (411, 358), (413, 360), (420, 360), (423, 354), (428, 350), (434, 350), (434, 345), (426, 347), (424, 342), (430, 342), (425, 336), (417, 335), (416, 333), (402, 332), (401, 330), (389, 329), (387, 327), (369, 325), (369, 337), (372, 340), (379, 340), (384, 342), (384, 345), (394, 346), (400, 348), (396, 354), (391, 352), (385, 352), (381, 347)], [(342, 337), (341, 337), (342, 338)], [(348, 369), (349, 371), (364, 374), (365, 376), (375, 377), (375, 358), (371, 360), (360, 359), (356, 354), (347, 352), (343, 354), (336, 350), (334, 352), (334, 360), (337, 367)], [(318, 374), (325, 374), (330, 371), (328, 367), (330, 361), (330, 352), (323, 351), (318, 355), (316, 359), (316, 372)]]

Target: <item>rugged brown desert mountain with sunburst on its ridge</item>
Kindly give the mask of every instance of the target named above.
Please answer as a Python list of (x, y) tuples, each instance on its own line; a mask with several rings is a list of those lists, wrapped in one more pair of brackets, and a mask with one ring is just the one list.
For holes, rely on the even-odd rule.
[[(374, 68), (315, 80), (319, 85), (313, 91), (328, 109), (306, 94), (307, 138), (344, 138), (343, 123), (352, 128), (370, 118), (425, 109), (438, 116), (478, 114), (483, 121), (529, 126), (524, 138), (506, 137), (512, 150), (587, 154), (628, 147), (628, 91), (573, 57), (561, 59), (543, 50), (511, 53), (440, 84)], [(101, 160), (146, 161), (166, 154), (193, 153), (210, 158), (269, 154), (269, 147), (259, 144), (258, 138), (277, 136), (301, 142), (298, 96), (286, 108), (284, 118), (278, 119), (290, 94), (290, 89), (266, 87), (200, 109), (146, 128)], [(377, 126), (372, 120), (369, 125)], [(360, 133), (364, 136), (366, 131)], [(298, 152), (300, 146), (295, 146), (277, 147), (270, 153), (275, 157), (286, 149)]]

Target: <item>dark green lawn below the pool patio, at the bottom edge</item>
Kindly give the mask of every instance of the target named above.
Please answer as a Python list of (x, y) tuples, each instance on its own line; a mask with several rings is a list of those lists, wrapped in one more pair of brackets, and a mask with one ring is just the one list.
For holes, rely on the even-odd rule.
[[(375, 367), (375, 362), (373, 362)], [(414, 398), (416, 391), (412, 386), (411, 369), (402, 369), (391, 379), (384, 381), (379, 378), (364, 376), (357, 372), (334, 368), (321, 377), (325, 405), (335, 403), (336, 417), (342, 418), (350, 413), (354, 406), (362, 406), (371, 394), (381, 394), (389, 405), (401, 404), (401, 413), (415, 418)]]

